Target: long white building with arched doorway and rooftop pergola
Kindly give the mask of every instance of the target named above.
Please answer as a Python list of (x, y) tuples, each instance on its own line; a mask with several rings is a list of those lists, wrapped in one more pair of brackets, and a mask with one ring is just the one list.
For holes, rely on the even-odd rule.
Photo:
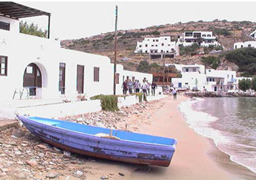
[[(113, 94), (114, 65), (110, 58), (62, 49), (59, 41), (21, 34), (19, 19), (26, 17), (24, 14), (43, 14), (50, 20), (50, 13), (3, 3), (11, 10), (0, 17), (0, 101)], [(17, 8), (23, 13), (11, 13)], [(127, 77), (152, 81), (151, 74), (124, 71), (117, 65), (117, 95), (122, 94), (121, 84)]]

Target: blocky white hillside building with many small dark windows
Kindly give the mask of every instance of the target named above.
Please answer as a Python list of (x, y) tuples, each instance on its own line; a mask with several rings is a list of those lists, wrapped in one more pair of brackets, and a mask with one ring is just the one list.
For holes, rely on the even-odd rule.
[[(166, 57), (174, 57), (178, 55), (178, 46), (175, 41), (171, 40), (170, 36), (163, 37), (145, 37), (142, 42), (137, 42), (135, 53), (149, 53), (154, 58), (154, 55), (161, 57), (165, 54)], [(156, 57), (156, 58), (157, 58)], [(163, 58), (163, 57), (162, 57)]]

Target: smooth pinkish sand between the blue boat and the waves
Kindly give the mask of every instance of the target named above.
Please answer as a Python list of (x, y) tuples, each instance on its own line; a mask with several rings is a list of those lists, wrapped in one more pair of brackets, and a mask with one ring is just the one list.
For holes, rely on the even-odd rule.
[[(126, 122), (129, 130), (178, 139), (169, 167), (134, 166), (118, 162), (109, 164), (103, 160), (97, 166), (98, 173), (112, 172), (114, 175), (111, 179), (254, 179), (254, 173), (233, 163), (227, 154), (215, 147), (212, 140), (200, 136), (188, 127), (178, 109), (178, 104), (187, 100), (184, 96), (178, 96), (177, 101), (173, 101), (172, 97), (164, 98), (156, 103), (157, 109), (147, 112), (151, 118), (133, 115)], [(125, 127), (125, 123), (119, 123), (117, 127)], [(126, 176), (115, 176), (118, 172)], [(92, 175), (90, 179), (98, 178)]]

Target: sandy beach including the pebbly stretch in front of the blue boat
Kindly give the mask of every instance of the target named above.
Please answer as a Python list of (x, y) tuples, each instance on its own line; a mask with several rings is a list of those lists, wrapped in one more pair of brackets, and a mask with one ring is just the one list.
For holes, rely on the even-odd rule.
[[(44, 163), (39, 162), (35, 166), (24, 163), (17, 164), (15, 156), (11, 159), (3, 154), (0, 161), (5, 163), (14, 163), (14, 169), (8, 167), (7, 173), (0, 176), (0, 179), (48, 179), (49, 173), (55, 173), (55, 179), (133, 179), (133, 180), (155, 180), (155, 179), (174, 179), (174, 180), (226, 180), (226, 179), (255, 179), (255, 174), (245, 167), (239, 166), (229, 160), (227, 154), (218, 151), (212, 140), (197, 134), (186, 123), (184, 116), (179, 110), (178, 105), (181, 101), (190, 101), (190, 99), (178, 95), (178, 100), (174, 101), (172, 97), (163, 98), (160, 101), (149, 102), (143, 112), (132, 113), (125, 117), (125, 121), (115, 124), (117, 129), (127, 129), (133, 132), (147, 133), (156, 136), (166, 136), (178, 139), (174, 157), (169, 167), (160, 166), (139, 166), (129, 163), (120, 163), (110, 160), (102, 160), (93, 157), (80, 156), (73, 154), (71, 156), (63, 155), (64, 152), (52, 146), (35, 139), (29, 131), (23, 131), (25, 134), (20, 138), (12, 138), (12, 144), (20, 148), (20, 143), (32, 145), (30, 148), (34, 153), (44, 154)], [(145, 106), (145, 105), (142, 105)], [(135, 112), (136, 107), (124, 107), (126, 111)], [(123, 110), (124, 111), (124, 110)], [(14, 134), (11, 130), (5, 134)], [(11, 136), (11, 135), (8, 135)], [(10, 143), (9, 143), (10, 144)], [(11, 148), (12, 145), (8, 145)], [(32, 147), (31, 146), (31, 147)], [(38, 148), (40, 146), (40, 148)], [(26, 147), (25, 147), (26, 148)], [(17, 148), (14, 146), (14, 149)], [(0, 149), (1, 150), (1, 149)], [(3, 149), (2, 152), (4, 152)], [(9, 154), (10, 156), (11, 154)], [(24, 154), (25, 155), (25, 154)], [(15, 157), (15, 158), (14, 158)], [(26, 156), (25, 156), (26, 157)], [(3, 158), (3, 159), (2, 159)], [(19, 157), (18, 157), (19, 158)], [(7, 159), (7, 161), (6, 161)], [(11, 160), (14, 160), (11, 162)], [(55, 161), (53, 161), (55, 160)], [(63, 160), (66, 163), (63, 163)], [(4, 163), (5, 162), (5, 163)], [(57, 165), (50, 165), (55, 162)], [(55, 164), (53, 163), (53, 164)], [(49, 165), (47, 165), (49, 164)], [(6, 169), (6, 168), (5, 168)], [(28, 178), (23, 169), (29, 172), (31, 178)], [(80, 172), (81, 175), (77, 173)], [(4, 172), (5, 173), (5, 172)]]

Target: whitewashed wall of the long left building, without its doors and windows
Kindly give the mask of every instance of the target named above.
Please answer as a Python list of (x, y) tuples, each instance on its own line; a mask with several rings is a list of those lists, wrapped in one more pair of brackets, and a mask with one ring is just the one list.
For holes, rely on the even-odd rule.
[[(17, 23), (17, 21), (11, 21)], [(0, 29), (0, 55), (8, 56), (8, 75), (0, 76), (0, 101), (11, 100), (15, 89), (23, 89), (23, 75), (26, 66), (35, 63), (41, 71), (42, 88), (37, 89), (37, 98), (60, 98), (59, 92), (59, 63), (66, 64), (66, 97), (76, 97), (77, 66), (84, 65), (84, 94), (111, 95), (114, 86), (114, 65), (110, 58), (93, 55), (70, 49), (62, 49), (59, 41), (20, 34)], [(94, 82), (94, 67), (99, 68), (99, 82)], [(123, 71), (122, 65), (117, 65), (120, 74), (120, 84), (117, 85), (117, 95), (122, 94), (122, 77), (130, 76), (141, 80), (146, 77), (152, 81), (151, 74), (141, 74)], [(16, 96), (18, 98), (18, 95)]]

